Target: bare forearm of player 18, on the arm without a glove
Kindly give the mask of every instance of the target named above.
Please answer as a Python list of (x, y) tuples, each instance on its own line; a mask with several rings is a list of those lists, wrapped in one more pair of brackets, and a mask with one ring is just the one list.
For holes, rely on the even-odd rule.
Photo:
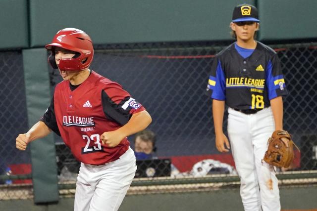
[(224, 101), (212, 100), (212, 116), (214, 124), (215, 134), (222, 134), (222, 124), (223, 124), (223, 113), (224, 113)]

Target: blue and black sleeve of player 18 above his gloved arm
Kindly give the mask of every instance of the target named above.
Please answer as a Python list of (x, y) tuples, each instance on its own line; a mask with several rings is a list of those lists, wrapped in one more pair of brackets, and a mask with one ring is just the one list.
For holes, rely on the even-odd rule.
[(267, 87), (268, 99), (288, 94), (282, 68), (277, 54), (268, 61), (265, 70), (265, 84)]

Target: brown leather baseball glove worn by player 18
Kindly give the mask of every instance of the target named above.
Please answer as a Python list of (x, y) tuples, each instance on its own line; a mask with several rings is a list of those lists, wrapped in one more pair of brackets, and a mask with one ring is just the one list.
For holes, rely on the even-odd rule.
[(294, 146), (299, 150), (287, 131), (276, 130), (268, 139), (264, 161), (275, 167), (287, 168), (294, 159)]

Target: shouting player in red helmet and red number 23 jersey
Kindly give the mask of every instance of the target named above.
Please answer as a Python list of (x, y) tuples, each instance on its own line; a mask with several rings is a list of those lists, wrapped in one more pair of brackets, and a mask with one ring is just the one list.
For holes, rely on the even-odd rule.
[(81, 162), (74, 210), (116, 211), (136, 170), (127, 136), (148, 127), (151, 116), (120, 84), (88, 69), (94, 49), (85, 32), (60, 30), (45, 47), (63, 81), (41, 120), (18, 135), (16, 147), (25, 150), (54, 131)]

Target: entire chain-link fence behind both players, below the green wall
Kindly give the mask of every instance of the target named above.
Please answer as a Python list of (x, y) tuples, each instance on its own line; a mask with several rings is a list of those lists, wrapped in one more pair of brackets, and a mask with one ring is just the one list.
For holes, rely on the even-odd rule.
[[(213, 57), (227, 44), (229, 43), (199, 42), (96, 46), (91, 69), (122, 84), (124, 89), (143, 104), (153, 118), (149, 129), (157, 134), (155, 157), (159, 159), (151, 162), (139, 161), (138, 164), (140, 173), (137, 175), (150, 176), (150, 179), (135, 179), (130, 193), (142, 193), (143, 190), (210, 190), (239, 183), (231, 154), (219, 154), (214, 146), (211, 99), (205, 95)], [(290, 92), (284, 98), (284, 128), (292, 133), (295, 143), (301, 149), (300, 153), (296, 153), (292, 168), (288, 172), (280, 172), (279, 178), (283, 179), (283, 184), (288, 184), (287, 181), (291, 184), (316, 183), (316, 179), (311, 177), (314, 177), (312, 173), (317, 169), (317, 43), (270, 46), (278, 52)], [(13, 60), (15, 66), (20, 61), (16, 68), (20, 69), (18, 74), (7, 71), (12, 65), (5, 66), (5, 62), (0, 64), (1, 76), (3, 75), (3, 88), (0, 92), (3, 99), (1, 120), (4, 118), (0, 128), (12, 140), (20, 131), (26, 131), (25, 100), (22, 100), (23, 71), (19, 59), (21, 54), (5, 54), (0, 54), (3, 57), (1, 61), (5, 61), (5, 58)], [(14, 77), (22, 82), (13, 80)], [(60, 81), (58, 72), (51, 70), (50, 78), (53, 91), (54, 85)], [(9, 99), (7, 89), (12, 93)], [(22, 96), (17, 94), (20, 92)], [(16, 97), (18, 102), (14, 102), (15, 96), (19, 96)], [(9, 107), (8, 102), (12, 106)], [(15, 107), (18, 107), (16, 111)], [(13, 114), (14, 111), (18, 114)], [(25, 121), (24, 124), (21, 123), (22, 120)], [(9, 131), (8, 125), (17, 121), (19, 127), (12, 126)], [(20, 128), (22, 125), (24, 127)], [(224, 130), (225, 128), (226, 120)], [(8, 144), (5, 137), (0, 140), (4, 146), (4, 160), (14, 163), (12, 156), (18, 155), (18, 152), (8, 153), (15, 148), (11, 146), (14, 143)], [(61, 193), (67, 194), (67, 190), (74, 187), (78, 163), (67, 148), (60, 144), (60, 137), (55, 136), (55, 141), (59, 181), (64, 184), (61, 186)], [(130, 137), (130, 141), (134, 148), (133, 137)], [(25, 156), (25, 153), (21, 156)], [(29, 161), (29, 158), (25, 160)], [(29, 163), (25, 160), (24, 163)], [(7, 162), (2, 163), (6, 165)], [(151, 176), (155, 176), (155, 179)], [(301, 179), (291, 180), (292, 178)], [(73, 193), (70, 191), (70, 194)]]

